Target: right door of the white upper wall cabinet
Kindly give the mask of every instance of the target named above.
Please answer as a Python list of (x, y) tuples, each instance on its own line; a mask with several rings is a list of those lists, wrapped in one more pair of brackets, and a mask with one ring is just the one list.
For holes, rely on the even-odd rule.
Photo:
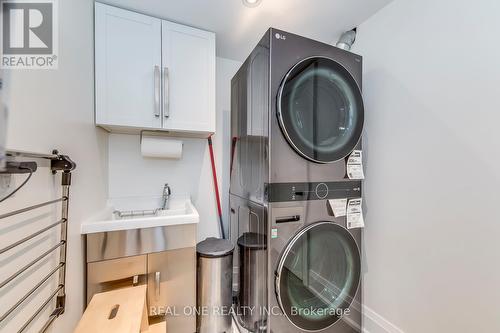
[(215, 132), (215, 35), (162, 21), (163, 127)]

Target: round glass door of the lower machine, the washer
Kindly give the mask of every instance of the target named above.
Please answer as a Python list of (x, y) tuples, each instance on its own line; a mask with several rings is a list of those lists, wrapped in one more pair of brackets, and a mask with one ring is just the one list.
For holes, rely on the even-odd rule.
[(336, 323), (358, 289), (361, 259), (351, 234), (332, 222), (302, 229), (276, 272), (281, 310), (298, 328), (320, 331)]

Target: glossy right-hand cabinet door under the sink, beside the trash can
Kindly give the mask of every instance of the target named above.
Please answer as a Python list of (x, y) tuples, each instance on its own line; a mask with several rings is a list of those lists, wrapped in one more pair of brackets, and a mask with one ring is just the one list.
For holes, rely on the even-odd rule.
[[(194, 247), (148, 254), (149, 315), (166, 314), (167, 332), (196, 330), (196, 250)], [(186, 312), (185, 312), (186, 311)]]

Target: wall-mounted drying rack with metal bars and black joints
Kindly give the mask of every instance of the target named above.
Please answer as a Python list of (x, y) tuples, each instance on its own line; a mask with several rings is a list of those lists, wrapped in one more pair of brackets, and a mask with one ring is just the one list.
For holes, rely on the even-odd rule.
[[(67, 249), (67, 225), (68, 225), (68, 208), (69, 208), (69, 187), (71, 185), (71, 171), (76, 168), (76, 164), (66, 155), (61, 155), (57, 150), (54, 150), (52, 154), (38, 154), (31, 153), (25, 151), (7, 151), (6, 156), (8, 157), (7, 166), (9, 165), (9, 160), (11, 160), (11, 167), (7, 167), (6, 170), (2, 171), (3, 174), (14, 174), (14, 173), (27, 173), (19, 169), (29, 169), (28, 172), (33, 173), (36, 171), (37, 166), (42, 161), (48, 161), (50, 163), (49, 167), (53, 174), (57, 172), (62, 173), (62, 196), (60, 198), (50, 200), (47, 202), (42, 202), (33, 206), (21, 208), (9, 213), (0, 214), (0, 220), (15, 216), (18, 214), (22, 214), (31, 210), (35, 210), (41, 207), (49, 206), (55, 203), (61, 202), (62, 211), (61, 211), (61, 219), (57, 222), (50, 224), (49, 226), (37, 230), (36, 232), (0, 249), (0, 254), (11, 251), (15, 249), (17, 246), (26, 243), (27, 241), (35, 238), (36, 236), (48, 232), (57, 226), (60, 226), (61, 238), (59, 243), (52, 246), (50, 249), (45, 251), (44, 253), (37, 256), (34, 260), (30, 261), (28, 264), (17, 270), (14, 274), (10, 275), (7, 279), (0, 282), (0, 289), (9, 285), (12, 281), (16, 280), (19, 276), (21, 276), (26, 270), (30, 267), (43, 260), (51, 253), (56, 250), (59, 250), (59, 264), (54, 267), (49, 274), (44, 276), (33, 288), (31, 288), (28, 292), (26, 292), (14, 305), (12, 305), (7, 311), (0, 314), (0, 322), (3, 322), (7, 319), (21, 304), (23, 304), (31, 295), (33, 295), (45, 282), (47, 282), (54, 274), (59, 274), (59, 281), (57, 288), (50, 294), (49, 298), (47, 298), (42, 305), (31, 315), (31, 317), (24, 323), (24, 325), (18, 330), (18, 333), (24, 332), (28, 326), (33, 322), (35, 318), (37, 318), (40, 313), (45, 309), (45, 307), (54, 299), (55, 297), (55, 310), (51, 312), (49, 318), (42, 326), (40, 332), (45, 332), (49, 326), (54, 322), (54, 320), (64, 313), (65, 305), (66, 305), (66, 249)], [(30, 162), (21, 162), (24, 163), (21, 168), (16, 169), (16, 165), (19, 166), (19, 163), (16, 164), (12, 162), (13, 159), (30, 159), (36, 161)], [(17, 171), (16, 171), (17, 170)]]

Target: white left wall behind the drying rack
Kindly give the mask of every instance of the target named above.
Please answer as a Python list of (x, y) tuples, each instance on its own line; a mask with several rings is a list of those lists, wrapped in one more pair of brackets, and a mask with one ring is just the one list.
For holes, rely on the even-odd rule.
[[(71, 187), (70, 218), (68, 230), (67, 307), (66, 313), (55, 321), (54, 332), (71, 332), (83, 309), (84, 257), (80, 224), (88, 216), (101, 209), (107, 197), (107, 134), (95, 128), (93, 93), (93, 1), (59, 1), (59, 69), (11, 70), (6, 83), (10, 100), (7, 147), (49, 153), (58, 148), (78, 164)], [(16, 183), (23, 177), (17, 177)], [(54, 197), (60, 189), (60, 176), (53, 178), (47, 168), (40, 169), (32, 182), (15, 198), (0, 204), (0, 213), (27, 204), (42, 202)], [(0, 243), (6, 245), (16, 236), (54, 222), (60, 217), (59, 209), (42, 209), (9, 221), (2, 220)], [(0, 274), (19, 269), (27, 258), (34, 258), (42, 249), (47, 249), (56, 239), (41, 236), (24, 251), (8, 253), (0, 258)], [(43, 276), (54, 260), (47, 262), (38, 273)], [(31, 273), (30, 273), (31, 274)], [(13, 304), (33, 286), (33, 281), (21, 278), (9, 293), (1, 294), (2, 313), (7, 304)], [(33, 280), (33, 279), (32, 279)], [(31, 282), (31, 283), (30, 283)], [(44, 288), (55, 289), (56, 280)], [(5, 292), (5, 291), (2, 291)], [(5, 296), (5, 297), (4, 297)], [(43, 296), (42, 296), (43, 297)], [(17, 312), (8, 325), (0, 327), (2, 332), (17, 332), (21, 321), (32, 314), (32, 310), (43, 301), (38, 295), (30, 299), (28, 306)], [(48, 308), (52, 310), (53, 304)], [(48, 317), (42, 317), (41, 321)], [(38, 332), (33, 327), (32, 332)]]

